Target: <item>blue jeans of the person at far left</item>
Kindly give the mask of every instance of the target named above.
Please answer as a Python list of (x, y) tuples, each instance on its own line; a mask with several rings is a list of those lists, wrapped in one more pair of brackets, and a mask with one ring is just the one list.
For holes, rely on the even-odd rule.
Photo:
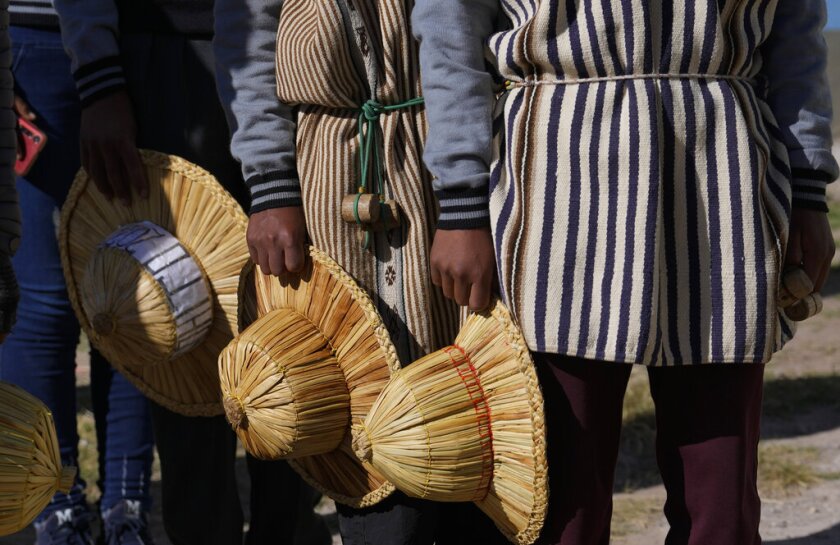
[[(76, 464), (76, 344), (73, 313), (58, 251), (58, 211), (79, 169), (80, 106), (57, 31), (12, 27), (17, 93), (38, 116), (47, 145), (18, 179), (23, 238), (13, 260), (20, 283), (18, 320), (0, 347), (0, 378), (40, 398), (53, 413), (62, 462)], [(154, 444), (146, 399), (98, 353), (91, 355), (91, 397), (99, 443), (103, 509), (120, 499), (150, 504)], [(41, 519), (84, 505), (84, 482), (57, 494)]]

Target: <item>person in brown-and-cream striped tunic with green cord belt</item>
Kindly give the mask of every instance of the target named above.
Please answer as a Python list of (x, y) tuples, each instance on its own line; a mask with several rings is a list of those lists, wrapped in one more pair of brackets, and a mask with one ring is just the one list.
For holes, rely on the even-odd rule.
[[(458, 328), (457, 308), (429, 280), (437, 211), (420, 160), (412, 6), (217, 0), (215, 11), (218, 87), (251, 191), (252, 260), (266, 275), (303, 274), (311, 240), (372, 294), (403, 365)], [(243, 410), (233, 413), (236, 425)], [(345, 545), (505, 542), (471, 506), (401, 493), (372, 507), (344, 499)]]

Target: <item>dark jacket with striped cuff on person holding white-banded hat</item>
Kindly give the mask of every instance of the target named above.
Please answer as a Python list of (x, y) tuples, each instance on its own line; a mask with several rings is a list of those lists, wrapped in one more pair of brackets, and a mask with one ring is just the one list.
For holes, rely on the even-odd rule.
[(213, 0), (54, 0), (53, 4), (83, 107), (125, 87), (121, 33), (194, 39), (213, 35)]

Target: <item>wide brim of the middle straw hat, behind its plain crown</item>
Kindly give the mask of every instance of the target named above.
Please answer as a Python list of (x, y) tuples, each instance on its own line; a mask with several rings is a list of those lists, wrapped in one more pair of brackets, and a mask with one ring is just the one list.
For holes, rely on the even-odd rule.
[[(367, 293), (325, 253), (310, 248), (309, 255), (311, 259), (300, 275), (278, 278), (264, 275), (256, 267), (246, 270), (241, 288), (240, 329), (278, 309), (295, 310), (305, 316), (330, 341), (347, 380), (351, 422), (361, 422), (392, 374), (399, 370), (399, 358)], [(336, 329), (351, 306), (361, 311), (367, 327), (363, 335), (340, 339)], [(378, 348), (372, 352), (354, 350), (365, 344)], [(369, 355), (359, 358), (360, 353)], [(395, 490), (369, 463), (355, 456), (349, 428), (334, 451), (288, 461), (310, 485), (351, 507), (369, 507)]]

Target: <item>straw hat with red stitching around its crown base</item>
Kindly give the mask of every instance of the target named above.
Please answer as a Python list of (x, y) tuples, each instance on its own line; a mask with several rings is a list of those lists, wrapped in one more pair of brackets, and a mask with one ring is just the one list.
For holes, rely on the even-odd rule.
[(548, 500), (544, 422), (530, 352), (496, 303), (471, 315), (454, 345), (396, 373), (354, 425), (353, 445), (406, 494), (473, 501), (524, 545)]

